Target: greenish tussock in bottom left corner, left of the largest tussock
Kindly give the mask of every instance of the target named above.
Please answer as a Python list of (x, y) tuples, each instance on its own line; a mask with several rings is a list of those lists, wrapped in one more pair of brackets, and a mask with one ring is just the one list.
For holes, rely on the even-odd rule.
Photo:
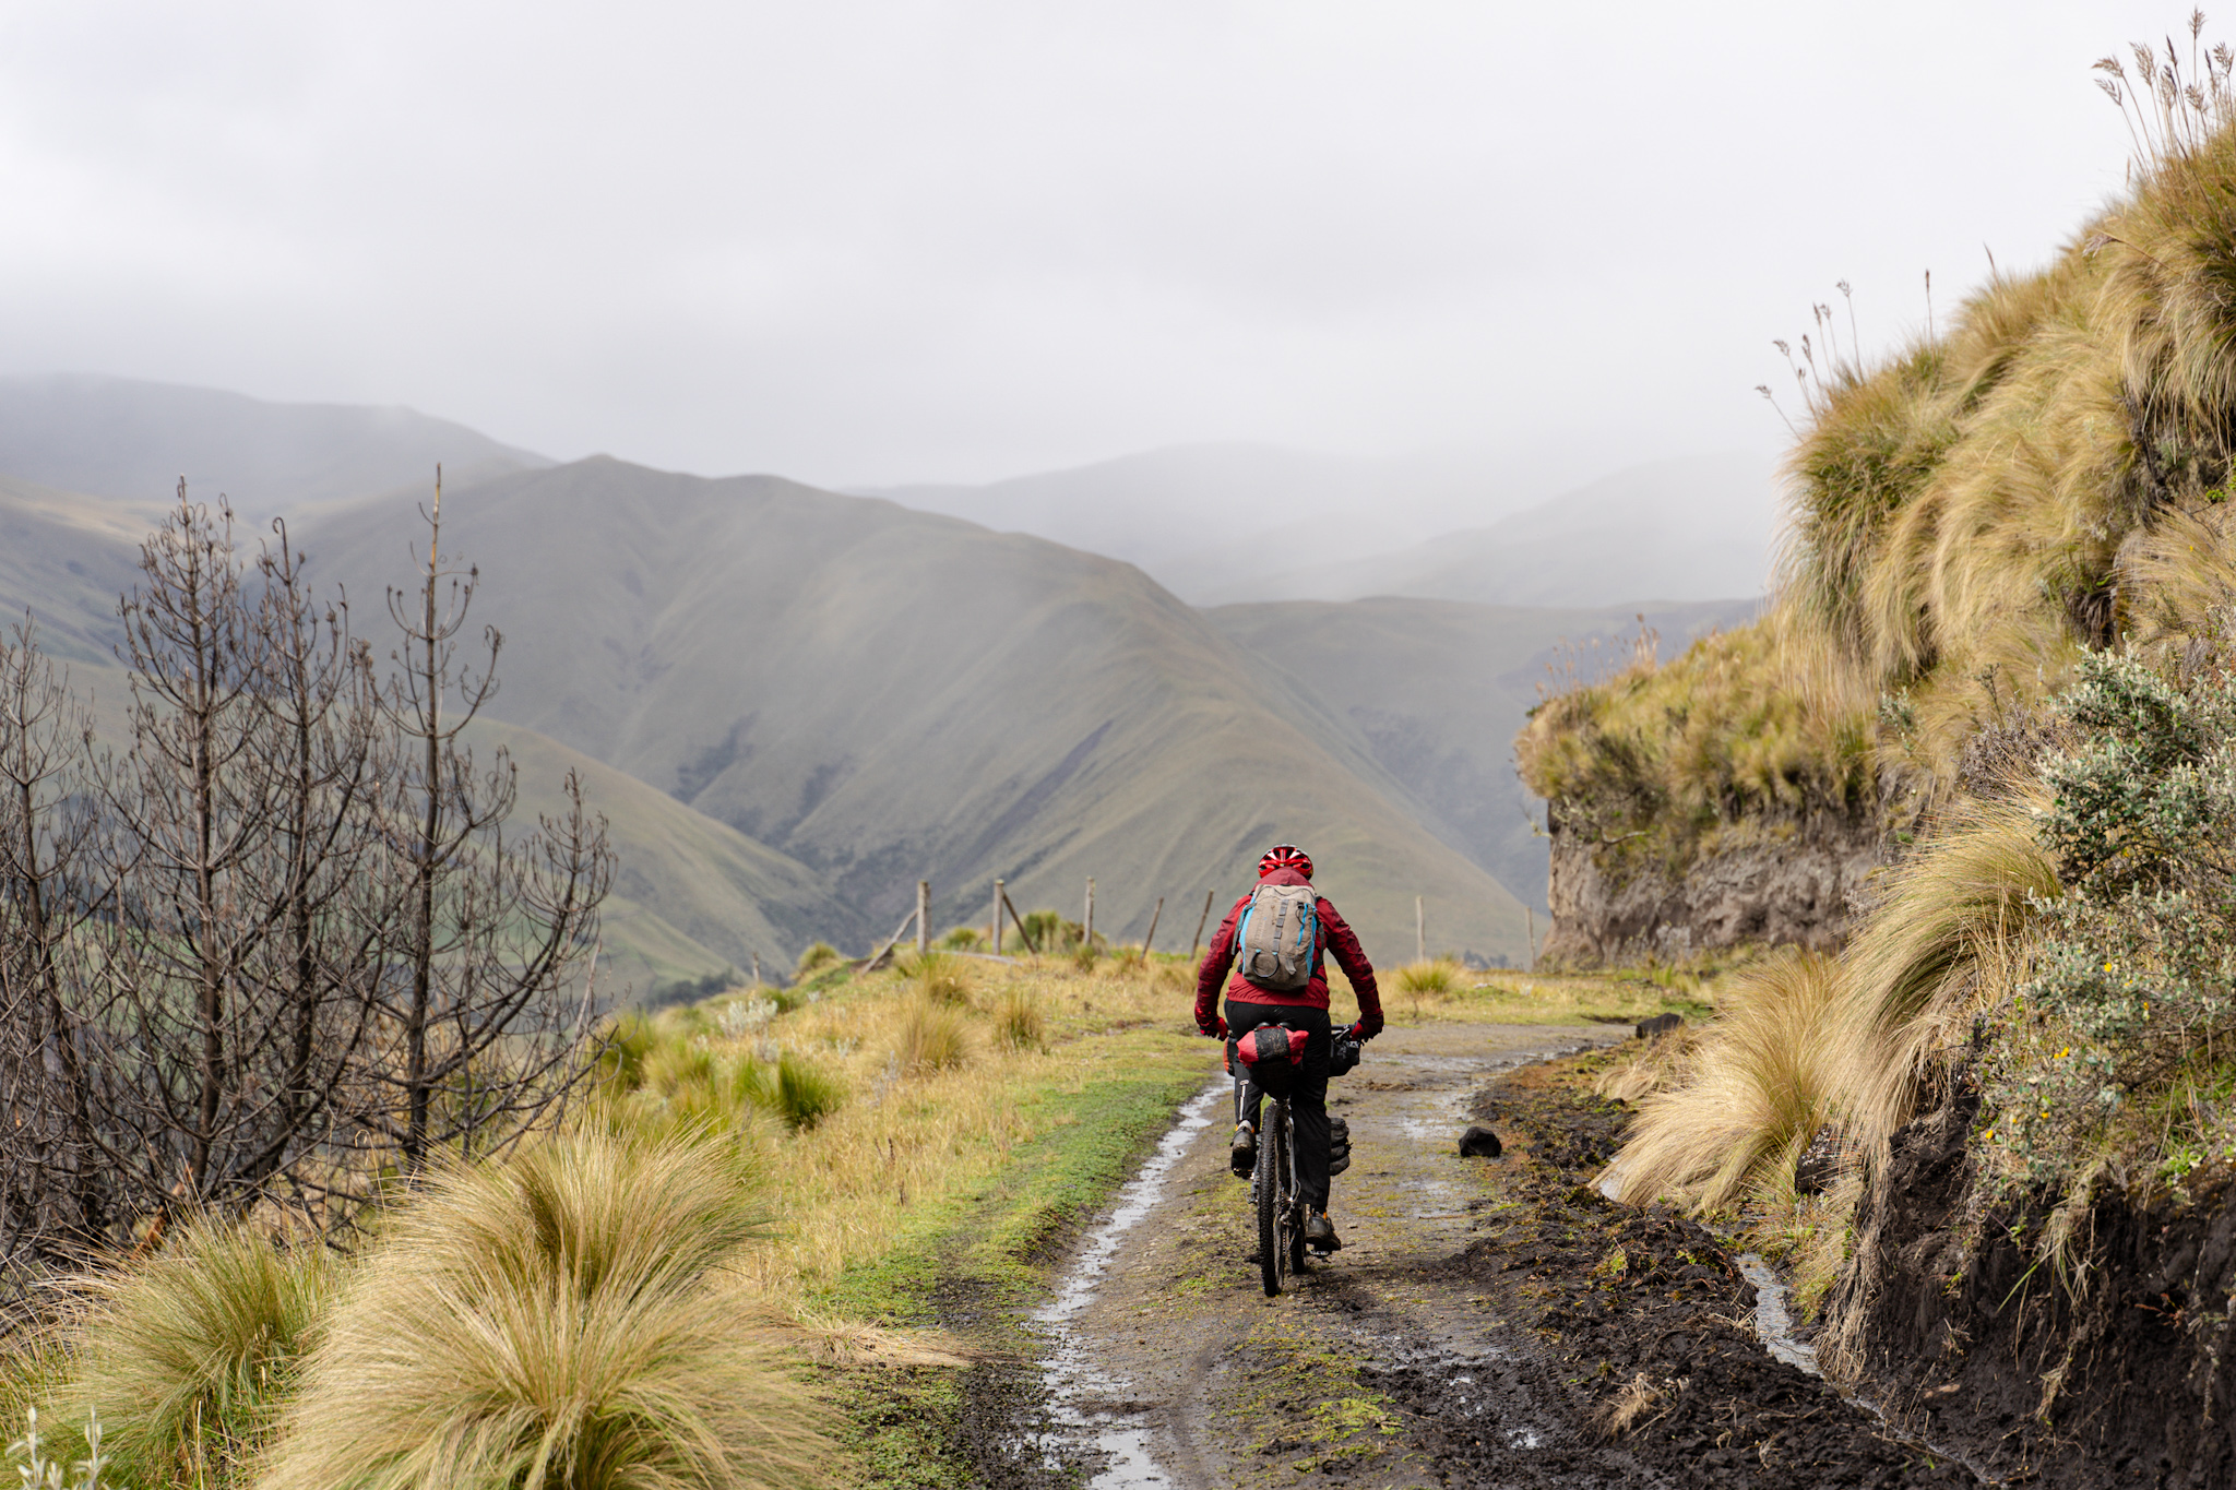
[(152, 1258), (83, 1280), (76, 1381), (56, 1416), (98, 1414), (125, 1483), (230, 1483), (271, 1434), (338, 1280), (315, 1242), (190, 1222)]

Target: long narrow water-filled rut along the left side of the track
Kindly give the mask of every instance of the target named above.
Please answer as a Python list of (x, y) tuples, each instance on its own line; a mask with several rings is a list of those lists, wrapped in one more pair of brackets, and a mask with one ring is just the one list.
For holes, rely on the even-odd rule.
[(1147, 1490), (1149, 1486), (1172, 1486), (1172, 1477), (1156, 1468), (1149, 1456), (1149, 1425), (1138, 1412), (1107, 1412), (1089, 1407), (1089, 1392), (1109, 1398), (1122, 1389), (1107, 1372), (1098, 1372), (1087, 1360), (1087, 1343), (1071, 1327), (1073, 1320), (1096, 1300), (1102, 1284), (1102, 1269), (1118, 1255), (1120, 1242), (1143, 1222), (1165, 1193), (1181, 1153), (1190, 1139), (1212, 1126), (1212, 1112), (1234, 1092), (1228, 1077), (1219, 1077), (1203, 1092), (1181, 1106), (1181, 1119), (1156, 1146), (1140, 1173), (1118, 1191), (1118, 1204), (1100, 1226), (1087, 1233), (1087, 1244), (1064, 1273), (1055, 1298), (1035, 1309), (1031, 1320), (1049, 1338), (1049, 1354), (1040, 1363), (1040, 1376), (1049, 1385), (1049, 1416), (1058, 1423), (1053, 1441), (1042, 1441), (1042, 1454), (1051, 1470), (1062, 1470), (1058, 1448), (1089, 1445), (1102, 1456), (1102, 1468), (1087, 1481), (1089, 1490)]

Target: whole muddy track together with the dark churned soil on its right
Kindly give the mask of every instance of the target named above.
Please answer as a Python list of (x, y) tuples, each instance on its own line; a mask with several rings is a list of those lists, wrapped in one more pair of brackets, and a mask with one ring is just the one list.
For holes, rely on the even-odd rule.
[[(1579, 1063), (1525, 1061), (1617, 1034), (1375, 1041), (1330, 1092), (1357, 1153), (1335, 1184), (1346, 1251), (1279, 1300), (1248, 1262), (1228, 1128), (1198, 1130), (1073, 1320), (1093, 1383), (1076, 1405), (1147, 1434), (1154, 1470), (1125, 1483), (1972, 1483), (1769, 1358), (1713, 1235), (1590, 1188), (1621, 1110), (1581, 1095)], [(1507, 1139), (1503, 1159), (1458, 1157), (1471, 1117)], [(1013, 1445), (986, 1468), (1020, 1483), (1046, 1463)]]

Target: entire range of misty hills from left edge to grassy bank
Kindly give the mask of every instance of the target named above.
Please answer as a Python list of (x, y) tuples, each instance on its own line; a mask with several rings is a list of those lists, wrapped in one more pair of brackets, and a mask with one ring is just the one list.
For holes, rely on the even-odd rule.
[[(177, 465), (197, 496), (288, 507), (313, 574), (347, 585), (358, 632), (385, 652), (382, 594), (411, 583), (440, 458), (443, 547), (479, 565), (474, 619), (505, 639), (483, 748), (512, 751), (525, 804), (548, 802), (568, 766), (584, 773), (622, 851), (608, 958), (639, 990), (756, 954), (785, 967), (816, 936), (865, 947), (917, 878), (946, 927), (984, 920), (995, 876), (1020, 905), (1069, 914), (1096, 876), (1100, 929), (1138, 938), (1163, 896), (1172, 945), (1205, 889), (1237, 894), (1272, 838), (1315, 851), (1377, 961), (1411, 956), (1415, 896), (1431, 945), (1527, 958), (1523, 905), (1543, 905), (1545, 856), (1509, 744), (1545, 661), (1635, 630), (1639, 610), (1670, 641), (1744, 619), (1755, 588), (1711, 599), (1702, 576), (1760, 574), (1766, 532), (1686, 529), (1681, 514), (1650, 532), (1655, 494), (1679, 483), (1626, 478), (1567, 516), (1543, 507), (1411, 558), (1335, 547), (1306, 565), (1427, 594), (1286, 599), (1310, 585), (1252, 576), (1228, 514), (1319, 503), (1366, 552), (1382, 529), (1346, 503), (1400, 462), (1198, 456), (988, 498), (1011, 518), (1091, 520), (1105, 556), (776, 476), (552, 465), (409, 411), (16, 380), (0, 382), (0, 603), (34, 608), (51, 650), (114, 697), (101, 659), (116, 592)], [(1686, 500), (1713, 509), (1717, 483), (1746, 474), (1693, 462), (1684, 478)], [(1643, 538), (1592, 565), (1605, 514)], [(1201, 610), (1143, 563), (1190, 550), (1268, 599)], [(1438, 585), (1474, 592), (1436, 599)], [(1534, 603), (1480, 603), (1500, 588)], [(1608, 603), (1632, 596), (1695, 603)]]

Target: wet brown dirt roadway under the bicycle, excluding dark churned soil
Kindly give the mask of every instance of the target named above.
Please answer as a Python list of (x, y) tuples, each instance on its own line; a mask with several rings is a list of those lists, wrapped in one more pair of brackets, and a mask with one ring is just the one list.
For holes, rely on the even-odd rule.
[[(1067, 1271), (1049, 1374), (1058, 1419), (1105, 1452), (1091, 1481), (1257, 1486), (1368, 1479), (1436, 1486), (1489, 1450), (1534, 1461), (1509, 1483), (1621, 1483), (1628, 1456), (1585, 1445), (1541, 1401), (1491, 1298), (1449, 1262), (1496, 1206), (1496, 1162), (1458, 1157), (1482, 1086), (1514, 1066), (1614, 1043), (1576, 1025), (1384, 1032), (1330, 1083), (1353, 1164), (1333, 1186), (1344, 1251), (1266, 1298), (1248, 1184), (1228, 1173), (1225, 1101), (1172, 1155), (1154, 1200), (1122, 1204), (1118, 1247), (1089, 1233)], [(1192, 1104), (1194, 1108), (1196, 1104)], [(1201, 1119), (1198, 1119), (1201, 1121)], [(1424, 1432), (1424, 1427), (1429, 1432)], [(1453, 1439), (1444, 1443), (1442, 1439)], [(1610, 1461), (1603, 1468), (1579, 1463)]]

